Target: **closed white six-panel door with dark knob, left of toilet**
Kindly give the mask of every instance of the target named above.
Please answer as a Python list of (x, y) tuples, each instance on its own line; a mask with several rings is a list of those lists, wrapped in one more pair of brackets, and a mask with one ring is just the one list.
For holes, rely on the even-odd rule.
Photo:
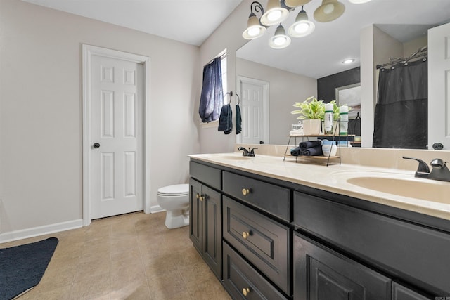
[(143, 65), (92, 56), (91, 218), (143, 209)]

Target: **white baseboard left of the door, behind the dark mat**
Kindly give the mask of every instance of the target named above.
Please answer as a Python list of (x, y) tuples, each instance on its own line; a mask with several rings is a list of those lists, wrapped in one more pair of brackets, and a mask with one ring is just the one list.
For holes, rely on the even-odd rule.
[(83, 227), (83, 220), (79, 219), (45, 226), (27, 228), (22, 230), (15, 230), (9, 233), (0, 233), (0, 243), (22, 240), (28, 237), (37, 237), (39, 235), (48, 235), (50, 233), (58, 233), (60, 231), (81, 227)]

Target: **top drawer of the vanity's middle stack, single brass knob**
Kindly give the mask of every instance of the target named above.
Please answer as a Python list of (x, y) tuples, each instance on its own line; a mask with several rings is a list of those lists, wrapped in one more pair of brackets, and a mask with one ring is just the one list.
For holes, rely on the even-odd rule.
[(223, 191), (290, 222), (290, 190), (288, 188), (224, 171)]

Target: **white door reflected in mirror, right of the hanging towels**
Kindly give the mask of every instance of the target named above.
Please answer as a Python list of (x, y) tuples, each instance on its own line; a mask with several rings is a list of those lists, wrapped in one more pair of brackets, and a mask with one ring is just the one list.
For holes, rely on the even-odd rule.
[(269, 84), (240, 77), (239, 87), (242, 131), (237, 136), (238, 143), (269, 143)]

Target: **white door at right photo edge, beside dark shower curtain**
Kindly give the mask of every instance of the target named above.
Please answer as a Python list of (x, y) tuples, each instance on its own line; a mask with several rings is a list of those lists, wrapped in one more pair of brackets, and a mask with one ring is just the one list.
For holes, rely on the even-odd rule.
[(450, 23), (428, 30), (428, 148), (450, 150)]

